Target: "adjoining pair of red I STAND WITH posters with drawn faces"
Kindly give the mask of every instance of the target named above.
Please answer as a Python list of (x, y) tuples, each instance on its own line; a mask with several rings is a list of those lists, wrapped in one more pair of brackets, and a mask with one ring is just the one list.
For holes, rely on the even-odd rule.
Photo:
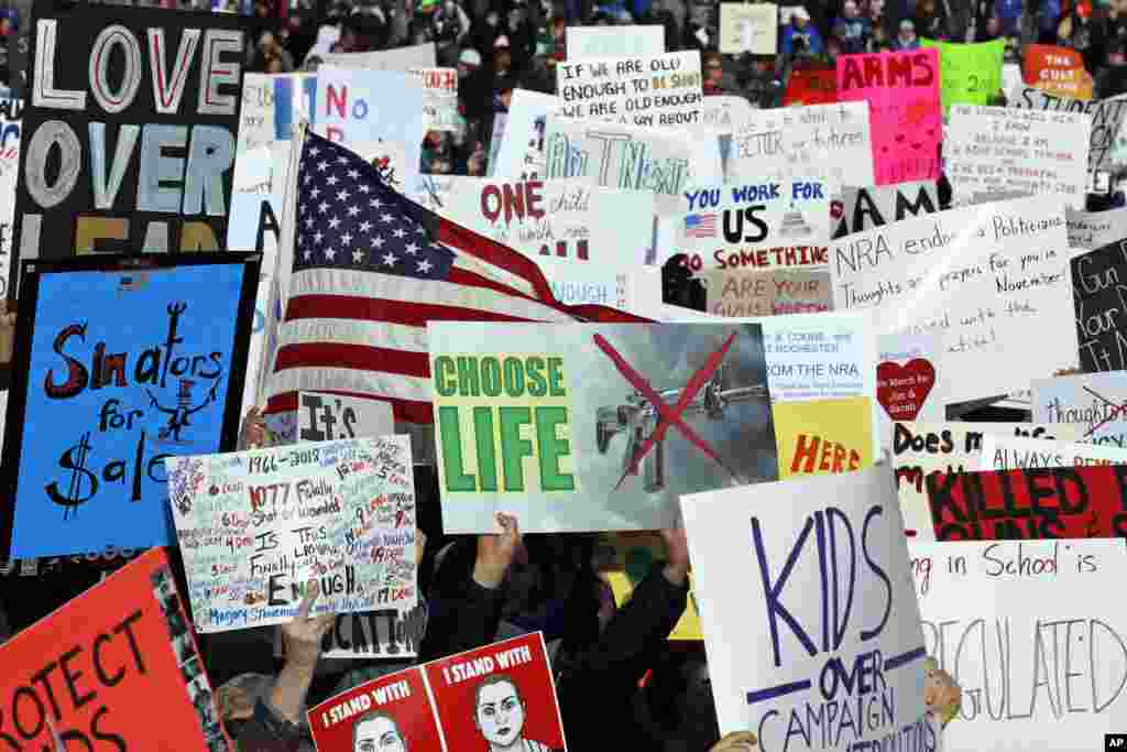
[(307, 717), (318, 750), (566, 750), (541, 632), (380, 676)]

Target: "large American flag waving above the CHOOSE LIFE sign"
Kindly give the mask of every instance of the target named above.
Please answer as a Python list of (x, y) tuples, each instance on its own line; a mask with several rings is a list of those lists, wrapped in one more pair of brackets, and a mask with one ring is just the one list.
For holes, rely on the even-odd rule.
[(328, 391), (432, 423), (427, 321), (646, 320), (562, 306), (532, 259), (396, 193), (348, 149), (312, 133), (301, 149), (266, 413), (298, 409), (299, 391)]

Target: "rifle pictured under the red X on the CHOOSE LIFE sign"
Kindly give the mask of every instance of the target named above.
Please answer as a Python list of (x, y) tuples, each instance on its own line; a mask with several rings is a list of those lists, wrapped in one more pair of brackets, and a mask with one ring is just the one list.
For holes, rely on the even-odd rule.
[[(749, 402), (753, 399), (767, 399), (766, 384), (752, 384), (724, 389), (725, 366), (716, 370), (708, 383), (696, 393), (693, 401), (685, 406), (682, 418), (704, 416), (709, 421), (722, 421), (729, 405)], [(659, 392), (666, 405), (676, 404), (682, 389), (667, 389)], [(605, 454), (610, 449), (611, 439), (619, 433), (627, 434), (625, 452), (622, 454), (622, 469), (629, 470), (635, 452), (654, 431), (660, 414), (657, 408), (641, 395), (635, 391), (627, 396), (624, 405), (600, 407), (596, 414), (596, 444), (598, 453)], [(642, 489), (655, 493), (665, 488), (665, 440), (656, 442), (642, 460)]]

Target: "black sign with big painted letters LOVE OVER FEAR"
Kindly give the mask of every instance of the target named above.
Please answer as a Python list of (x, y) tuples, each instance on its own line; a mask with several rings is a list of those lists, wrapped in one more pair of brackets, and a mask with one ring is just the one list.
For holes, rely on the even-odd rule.
[(36, 6), (17, 260), (222, 248), (241, 23), (135, 10)]

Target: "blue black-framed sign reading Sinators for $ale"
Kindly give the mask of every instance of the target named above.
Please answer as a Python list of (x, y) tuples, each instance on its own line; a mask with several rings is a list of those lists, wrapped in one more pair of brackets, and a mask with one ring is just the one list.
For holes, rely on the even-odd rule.
[(24, 266), (0, 558), (174, 541), (162, 460), (234, 449), (258, 254)]

